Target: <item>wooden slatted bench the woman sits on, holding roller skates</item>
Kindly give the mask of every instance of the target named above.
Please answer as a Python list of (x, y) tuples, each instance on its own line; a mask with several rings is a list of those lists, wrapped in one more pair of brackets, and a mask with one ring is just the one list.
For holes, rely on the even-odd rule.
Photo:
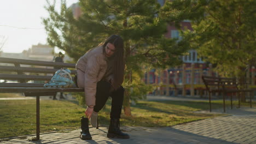
[[(57, 68), (57, 69), (56, 69)], [(60, 68), (71, 70), (72, 78), (76, 73), (75, 64), (61, 62), (32, 61), (26, 59), (0, 57), (0, 80), (11, 80), (13, 83), (0, 83), (1, 93), (24, 93), (26, 97), (36, 96), (37, 140), (39, 140), (39, 97), (55, 95), (57, 92), (84, 92), (83, 88), (46, 88), (54, 73)]]

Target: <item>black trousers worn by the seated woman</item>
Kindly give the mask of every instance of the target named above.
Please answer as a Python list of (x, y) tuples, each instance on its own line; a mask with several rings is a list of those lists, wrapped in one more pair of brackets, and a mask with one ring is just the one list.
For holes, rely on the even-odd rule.
[(112, 97), (110, 118), (120, 118), (124, 100), (124, 87), (121, 86), (113, 92), (110, 92), (110, 88), (111, 84), (109, 82), (97, 82), (94, 111), (99, 112), (106, 104), (108, 97)]

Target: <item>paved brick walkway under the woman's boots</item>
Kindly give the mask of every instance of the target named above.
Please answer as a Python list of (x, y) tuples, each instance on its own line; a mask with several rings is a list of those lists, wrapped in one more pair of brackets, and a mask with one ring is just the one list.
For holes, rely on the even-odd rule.
[[(152, 98), (153, 99), (153, 98)], [(162, 97), (164, 99), (164, 97)], [(177, 98), (166, 98), (180, 100)], [(149, 98), (150, 100), (150, 98)], [(182, 99), (186, 100), (186, 99)], [(189, 99), (187, 99), (189, 100)], [(222, 113), (223, 109), (213, 110)], [(200, 113), (209, 113), (200, 111)], [(91, 143), (91, 144), (130, 144), (130, 143), (255, 143), (256, 144), (256, 108), (227, 109), (228, 116), (204, 119), (173, 127), (145, 128), (121, 127), (131, 139), (108, 139), (107, 127), (90, 128), (92, 140), (80, 140), (80, 130), (66, 130), (41, 134), (40, 141), (29, 141), (34, 136), (9, 139), (0, 143)]]

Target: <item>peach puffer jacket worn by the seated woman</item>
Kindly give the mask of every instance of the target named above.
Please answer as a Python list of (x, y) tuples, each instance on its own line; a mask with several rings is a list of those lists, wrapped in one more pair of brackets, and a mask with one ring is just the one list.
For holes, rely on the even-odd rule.
[(97, 82), (107, 70), (107, 57), (103, 47), (95, 47), (80, 57), (75, 68), (84, 72), (84, 92), (86, 105), (95, 105)]

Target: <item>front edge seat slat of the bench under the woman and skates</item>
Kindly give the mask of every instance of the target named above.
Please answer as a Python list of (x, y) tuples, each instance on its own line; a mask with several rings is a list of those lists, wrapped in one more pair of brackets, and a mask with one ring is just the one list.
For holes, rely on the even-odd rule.
[(0, 87), (2, 93), (25, 93), (25, 92), (84, 92), (83, 88), (48, 88), (48, 87)]

